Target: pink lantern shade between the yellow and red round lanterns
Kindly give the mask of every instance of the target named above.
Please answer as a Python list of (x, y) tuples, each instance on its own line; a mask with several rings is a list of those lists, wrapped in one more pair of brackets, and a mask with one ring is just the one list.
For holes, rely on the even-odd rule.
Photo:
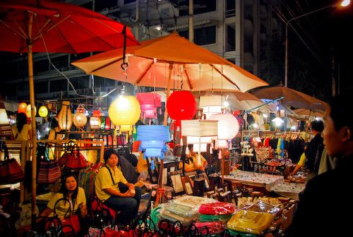
[(161, 107), (160, 95), (156, 93), (137, 93), (141, 113), (145, 119), (157, 119), (157, 107)]

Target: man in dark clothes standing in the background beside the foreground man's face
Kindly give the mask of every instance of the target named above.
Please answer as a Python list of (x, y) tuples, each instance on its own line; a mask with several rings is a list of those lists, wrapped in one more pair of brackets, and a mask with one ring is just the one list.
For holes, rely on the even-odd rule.
[(313, 178), (318, 175), (318, 166), (320, 165), (321, 154), (323, 153), (323, 121), (314, 120), (311, 122), (311, 133), (314, 137), (311, 139), (308, 148), (305, 151), (306, 170), (308, 171), (308, 178)]

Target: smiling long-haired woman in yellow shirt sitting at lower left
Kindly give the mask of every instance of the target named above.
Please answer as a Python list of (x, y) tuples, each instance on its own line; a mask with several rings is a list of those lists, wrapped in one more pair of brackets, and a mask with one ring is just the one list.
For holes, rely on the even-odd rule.
[[(77, 183), (77, 178), (73, 173), (64, 173), (61, 176), (61, 190), (58, 193), (55, 193), (52, 199), (48, 202), (47, 207), (45, 207), (37, 218), (37, 223), (43, 221), (44, 217), (53, 217), (54, 208), (59, 219), (64, 219), (70, 206), (71, 213), (76, 214), (79, 211), (80, 219), (85, 219), (87, 215), (85, 191), (83, 188), (78, 187)], [(66, 198), (70, 203), (63, 201), (56, 204), (56, 201), (61, 198)], [(82, 224), (81, 221), (80, 224)], [(81, 226), (81, 229), (83, 229), (82, 227), (83, 226)]]

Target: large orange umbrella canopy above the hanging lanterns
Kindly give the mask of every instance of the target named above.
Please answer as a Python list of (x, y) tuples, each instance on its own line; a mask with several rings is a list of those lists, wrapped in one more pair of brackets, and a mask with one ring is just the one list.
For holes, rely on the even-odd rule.
[(127, 47), (127, 76), (121, 68), (123, 56), (124, 49), (114, 49), (72, 64), (88, 74), (140, 86), (244, 92), (268, 85), (256, 75), (177, 33), (142, 42), (140, 46)]

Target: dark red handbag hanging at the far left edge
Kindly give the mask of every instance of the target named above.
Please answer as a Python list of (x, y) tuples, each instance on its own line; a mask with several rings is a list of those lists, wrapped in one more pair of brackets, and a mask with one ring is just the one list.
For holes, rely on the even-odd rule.
[(23, 181), (25, 174), (16, 159), (8, 157), (8, 149), (5, 142), (0, 144), (4, 150), (4, 160), (0, 161), (0, 184), (18, 183)]

